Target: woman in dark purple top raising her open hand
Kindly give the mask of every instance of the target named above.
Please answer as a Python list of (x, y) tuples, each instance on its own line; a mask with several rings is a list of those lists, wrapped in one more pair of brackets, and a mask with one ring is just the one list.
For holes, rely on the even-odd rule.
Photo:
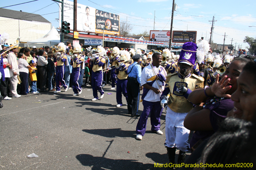
[(234, 108), (230, 97), (236, 91), (238, 76), (248, 61), (245, 58), (234, 59), (221, 76), (220, 82), (217, 75), (212, 87), (196, 89), (189, 94), (188, 100), (197, 105), (184, 120), (187, 129), (196, 131), (190, 141), (190, 148), (212, 136), (219, 129), (219, 123), (226, 118), (228, 111)]

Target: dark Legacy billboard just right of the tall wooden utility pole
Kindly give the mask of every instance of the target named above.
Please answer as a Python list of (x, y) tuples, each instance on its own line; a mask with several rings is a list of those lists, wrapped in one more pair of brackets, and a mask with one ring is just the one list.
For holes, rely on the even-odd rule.
[(196, 31), (172, 31), (173, 43), (196, 43)]

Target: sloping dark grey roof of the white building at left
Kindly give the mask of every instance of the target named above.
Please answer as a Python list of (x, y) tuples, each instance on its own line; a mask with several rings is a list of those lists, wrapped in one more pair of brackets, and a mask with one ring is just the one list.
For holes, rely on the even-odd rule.
[(38, 15), (38, 14), (8, 10), (8, 9), (4, 9), (4, 8), (0, 8), (0, 17), (51, 23), (50, 21), (48, 21), (47, 19), (45, 19), (44, 17), (42, 17), (41, 15)]

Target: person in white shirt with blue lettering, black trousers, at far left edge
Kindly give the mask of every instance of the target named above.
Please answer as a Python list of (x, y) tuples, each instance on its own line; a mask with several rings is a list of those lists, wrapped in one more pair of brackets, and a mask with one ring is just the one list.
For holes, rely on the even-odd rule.
[[(1, 53), (3, 51), (4, 50), (1, 50)], [(7, 87), (8, 87), (8, 81), (9, 81), (9, 78), (10, 78), (10, 70), (9, 70), (9, 68), (11, 69), (12, 66), (8, 63), (6, 53), (2, 54), (2, 56), (3, 56), (3, 67), (4, 67), (4, 77), (5, 77), (5, 80), (3, 81), (3, 78), (1, 78), (0, 91), (1, 91), (2, 96), (4, 97), (4, 100), (12, 100), (12, 98), (7, 96), (7, 94), (8, 94), (7, 93)]]

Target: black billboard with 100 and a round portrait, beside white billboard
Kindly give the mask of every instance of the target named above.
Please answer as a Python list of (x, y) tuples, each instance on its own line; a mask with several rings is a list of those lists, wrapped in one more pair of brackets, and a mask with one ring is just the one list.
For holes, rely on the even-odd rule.
[(96, 10), (96, 33), (119, 34), (119, 15)]

